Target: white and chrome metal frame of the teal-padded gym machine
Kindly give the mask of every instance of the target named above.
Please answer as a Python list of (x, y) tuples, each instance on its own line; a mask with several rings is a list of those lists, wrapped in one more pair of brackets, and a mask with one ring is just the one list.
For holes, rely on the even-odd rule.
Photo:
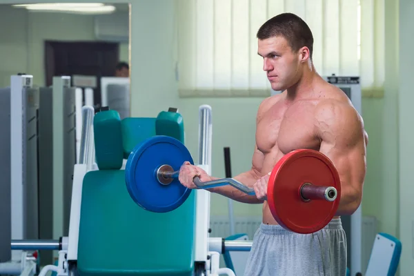
[[(49, 270), (57, 272), (57, 275), (75, 275), (77, 273), (78, 241), (79, 241), (79, 221), (81, 215), (81, 193), (83, 177), (91, 168), (93, 159), (90, 155), (91, 133), (94, 119), (94, 109), (83, 107), (83, 126), (81, 138), (81, 155), (79, 164), (75, 165), (72, 204), (70, 212), (70, 230), (68, 237), (61, 237), (59, 240), (30, 240), (13, 239), (13, 250), (59, 250), (59, 262), (56, 266), (46, 266), (40, 275), (45, 275)], [(209, 106), (201, 106), (199, 110), (199, 166), (210, 172), (211, 160), (211, 109)], [(92, 145), (92, 146), (91, 146)], [(92, 169), (93, 170), (93, 169)], [(196, 275), (234, 275), (228, 268), (219, 268), (219, 252), (224, 250), (250, 250), (251, 242), (221, 241), (219, 252), (217, 238), (211, 239), (209, 236), (209, 207), (210, 198), (206, 190), (196, 190), (196, 222), (195, 222), (195, 249), (193, 251)]]

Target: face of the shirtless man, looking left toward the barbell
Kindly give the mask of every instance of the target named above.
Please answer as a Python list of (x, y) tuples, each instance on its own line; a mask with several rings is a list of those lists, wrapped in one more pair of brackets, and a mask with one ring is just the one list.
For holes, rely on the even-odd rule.
[(263, 57), (263, 70), (266, 71), (273, 90), (286, 90), (297, 82), (299, 52), (293, 52), (284, 37), (259, 39), (257, 53)]

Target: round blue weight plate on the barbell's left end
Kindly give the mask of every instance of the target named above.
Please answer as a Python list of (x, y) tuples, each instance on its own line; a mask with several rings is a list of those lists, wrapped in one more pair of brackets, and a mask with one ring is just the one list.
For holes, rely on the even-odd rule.
[(156, 170), (167, 164), (179, 170), (184, 161), (194, 164), (188, 149), (179, 140), (168, 136), (154, 136), (135, 146), (125, 168), (126, 188), (136, 204), (156, 213), (175, 210), (186, 201), (191, 189), (178, 179), (169, 185), (159, 184)]

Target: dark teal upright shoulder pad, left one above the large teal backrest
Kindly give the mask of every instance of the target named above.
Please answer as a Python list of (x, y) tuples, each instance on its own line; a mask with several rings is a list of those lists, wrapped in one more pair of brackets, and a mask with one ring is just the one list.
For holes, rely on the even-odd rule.
[(93, 119), (95, 157), (99, 170), (119, 170), (122, 167), (121, 118), (115, 110), (97, 112)]

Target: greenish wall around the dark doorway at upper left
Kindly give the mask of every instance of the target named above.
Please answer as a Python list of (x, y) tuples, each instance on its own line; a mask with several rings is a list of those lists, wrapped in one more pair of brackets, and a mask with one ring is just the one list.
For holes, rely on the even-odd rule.
[[(27, 12), (0, 5), (0, 87), (8, 86), (10, 75), (26, 72), (34, 84), (44, 86), (44, 41), (94, 41), (92, 15)], [(128, 61), (128, 43), (119, 46), (119, 59)]]

